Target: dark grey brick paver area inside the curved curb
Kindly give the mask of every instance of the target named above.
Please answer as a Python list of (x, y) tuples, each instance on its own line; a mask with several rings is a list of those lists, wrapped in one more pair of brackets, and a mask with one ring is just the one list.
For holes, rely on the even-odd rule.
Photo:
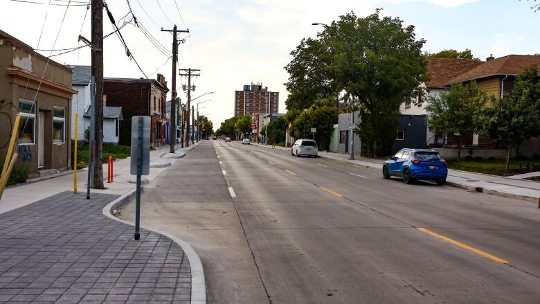
[(190, 303), (169, 238), (102, 215), (118, 197), (59, 193), (0, 215), (0, 303)]

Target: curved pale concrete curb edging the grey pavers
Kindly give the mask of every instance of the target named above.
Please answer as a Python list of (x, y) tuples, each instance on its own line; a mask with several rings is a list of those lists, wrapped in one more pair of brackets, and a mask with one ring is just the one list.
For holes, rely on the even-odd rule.
[[(141, 189), (142, 190), (142, 189)], [(135, 226), (132, 222), (127, 222), (125, 220), (120, 220), (118, 217), (115, 217), (112, 215), (112, 211), (123, 204), (126, 204), (129, 202), (129, 200), (135, 198), (135, 189), (129, 190), (127, 193), (124, 193), (123, 195), (120, 195), (117, 199), (107, 204), (102, 209), (103, 215), (106, 217), (109, 217), (112, 220), (116, 220), (118, 222), (123, 222), (124, 224), (128, 224), (131, 226)], [(184, 242), (183, 240), (177, 238), (174, 235), (170, 235), (169, 233), (158, 231), (156, 229), (151, 229), (147, 226), (141, 226), (143, 229), (147, 229), (150, 231), (154, 231), (155, 233), (159, 233), (161, 235), (165, 235), (167, 238), (170, 238), (173, 242), (176, 242), (183, 250), (184, 253), (186, 253), (186, 256), (188, 256), (188, 260), (190, 261), (190, 268), (191, 268), (191, 304), (206, 304), (206, 283), (204, 280), (204, 269), (202, 266), (201, 258), (197, 254), (197, 252), (190, 246), (190, 244)]]

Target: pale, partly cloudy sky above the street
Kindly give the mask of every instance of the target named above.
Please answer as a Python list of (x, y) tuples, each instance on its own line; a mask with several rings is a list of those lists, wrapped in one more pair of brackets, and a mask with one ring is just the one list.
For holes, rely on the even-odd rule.
[[(87, 1), (71, 1), (78, 6), (69, 7), (65, 5), (69, 0), (23, 1), (37, 3), (0, 0), (0, 29), (33, 48), (73, 48), (82, 45), (79, 34), (91, 38), (90, 10), (80, 5)], [(125, 55), (118, 37), (111, 35), (104, 41), (105, 77), (141, 78), (146, 74), (155, 79), (156, 73), (162, 73), (171, 87), (172, 35), (161, 28), (172, 29), (173, 24), (179, 30), (189, 28), (189, 34), (179, 35), (185, 40), (179, 46), (178, 68), (201, 70), (200, 77), (192, 78), (196, 86), (192, 98), (214, 93), (192, 104), (204, 101), (199, 113), (213, 120), (216, 128), (234, 115), (234, 91), (251, 82), (262, 82), (270, 91), (280, 92), (279, 109), (285, 113), (288, 74), (284, 66), (291, 61), (290, 52), (301, 39), (316, 37), (323, 30), (312, 23), (330, 24), (350, 11), (365, 17), (383, 8), (381, 15), (399, 17), (405, 26), (415, 26), (417, 39), (426, 40), (424, 51), (470, 48), (482, 60), (491, 54), (540, 53), (540, 11), (531, 10), (532, 2), (525, 0), (108, 0), (117, 24), (126, 15), (132, 17), (128, 3), (139, 24), (165, 51), (152, 45), (132, 21), (121, 33), (143, 71)], [(106, 14), (104, 17), (104, 33), (111, 33), (111, 22)], [(48, 56), (60, 51), (39, 53)], [(62, 64), (91, 62), (88, 48), (51, 58)], [(182, 102), (187, 100), (181, 89), (186, 82), (185, 77), (177, 76)]]

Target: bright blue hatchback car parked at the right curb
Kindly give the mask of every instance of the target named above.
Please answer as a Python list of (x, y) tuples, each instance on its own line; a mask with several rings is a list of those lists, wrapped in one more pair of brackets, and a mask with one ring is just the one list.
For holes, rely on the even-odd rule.
[(383, 163), (383, 177), (402, 177), (405, 184), (416, 179), (430, 179), (439, 186), (447, 181), (447, 162), (439, 152), (427, 149), (402, 149)]

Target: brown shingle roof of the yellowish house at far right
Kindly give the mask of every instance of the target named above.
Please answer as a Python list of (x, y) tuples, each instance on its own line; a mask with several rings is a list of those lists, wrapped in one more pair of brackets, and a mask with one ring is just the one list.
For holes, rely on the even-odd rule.
[(533, 64), (540, 67), (540, 56), (507, 55), (484, 62), (482, 65), (456, 76), (456, 78), (453, 78), (447, 82), (447, 84), (485, 78), (493, 75), (518, 75)]

